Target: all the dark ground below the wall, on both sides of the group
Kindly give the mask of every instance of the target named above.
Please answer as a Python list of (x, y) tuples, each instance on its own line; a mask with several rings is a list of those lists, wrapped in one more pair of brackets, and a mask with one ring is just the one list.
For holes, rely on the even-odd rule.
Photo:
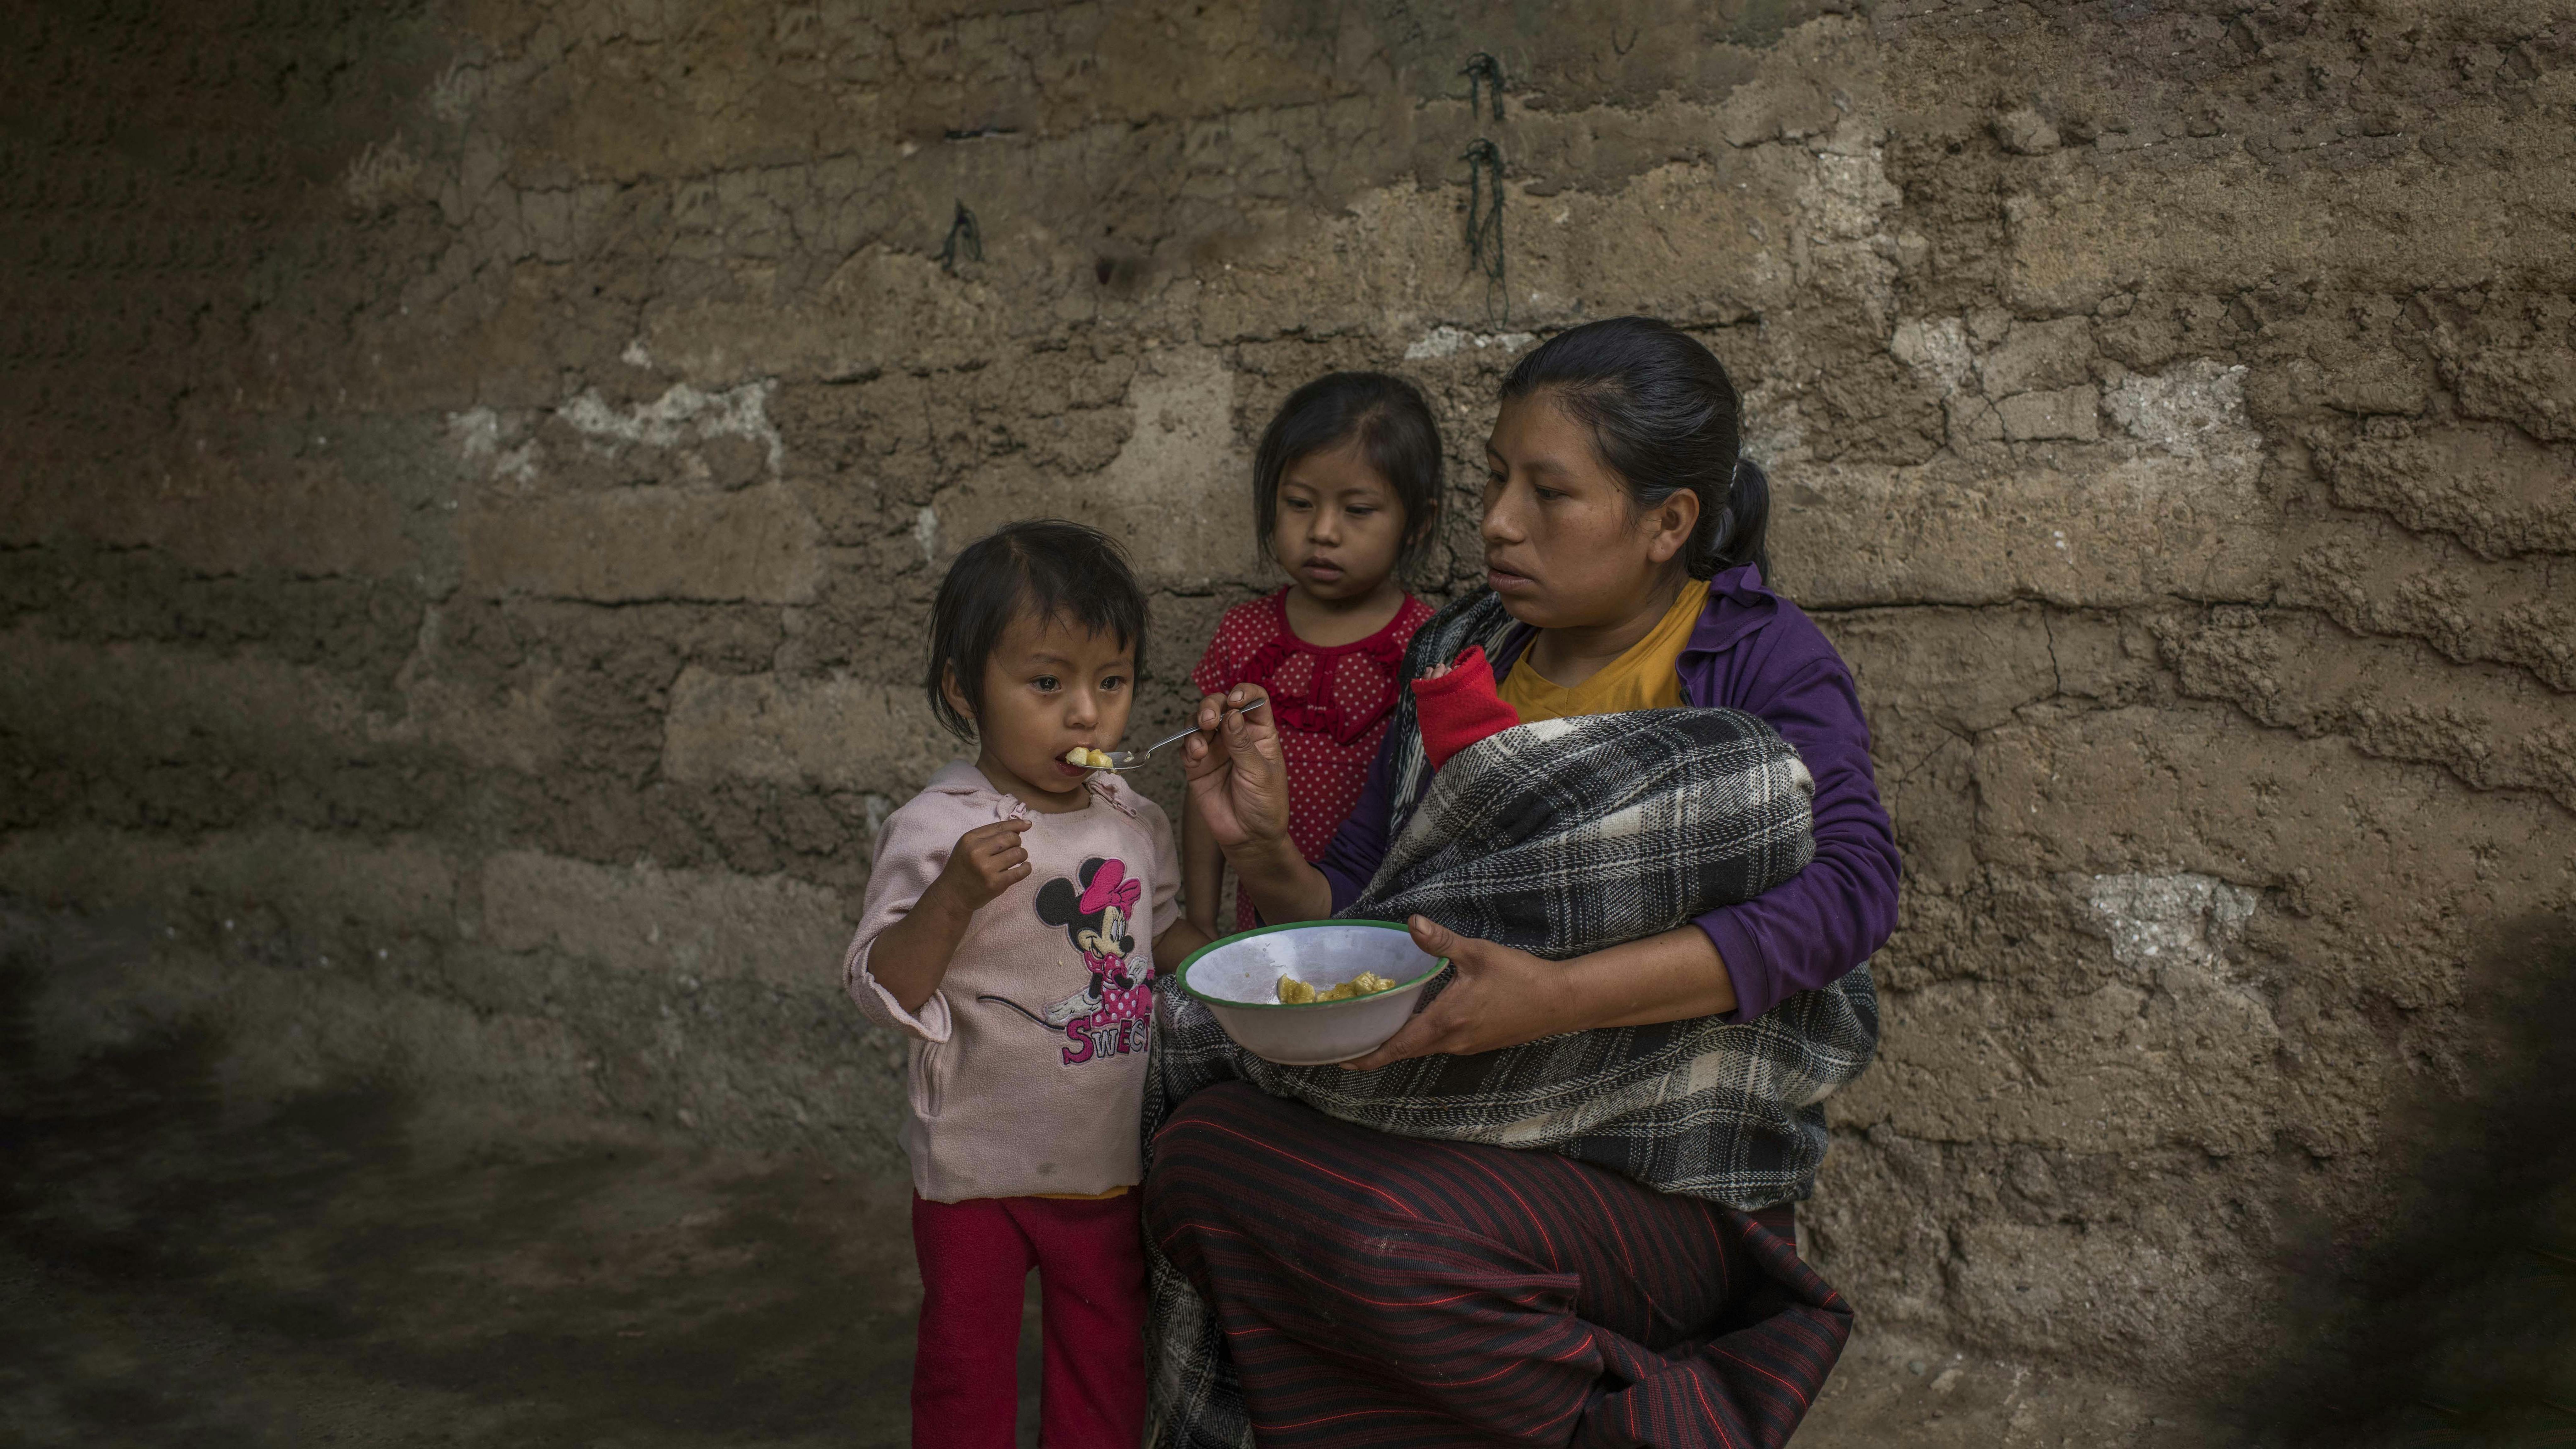
[[(33, 982), (0, 957), (0, 1444), (909, 1441), (902, 1183), (433, 1142), (368, 1083), (242, 1106), (211, 1034), (44, 1067)], [(2306, 1307), (2215, 1405), (2233, 1423), (1865, 1325), (1798, 1444), (2568, 1444), (2576, 933), (2522, 941), (2488, 990), (2483, 1085), (2414, 1132), (2427, 1186), (2339, 1263), (2285, 1266)]]

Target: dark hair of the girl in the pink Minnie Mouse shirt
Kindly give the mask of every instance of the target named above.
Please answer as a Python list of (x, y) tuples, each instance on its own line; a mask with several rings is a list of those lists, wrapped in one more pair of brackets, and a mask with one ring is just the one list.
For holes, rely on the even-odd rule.
[[(984, 714), (984, 660), (1023, 611), (1118, 634), (1144, 673), (1144, 588), (1126, 549), (1100, 529), (1061, 518), (1010, 523), (966, 544), (930, 606), (930, 714), (951, 735), (974, 740), (974, 714)], [(956, 670), (969, 714), (958, 714), (940, 688), (948, 670)]]

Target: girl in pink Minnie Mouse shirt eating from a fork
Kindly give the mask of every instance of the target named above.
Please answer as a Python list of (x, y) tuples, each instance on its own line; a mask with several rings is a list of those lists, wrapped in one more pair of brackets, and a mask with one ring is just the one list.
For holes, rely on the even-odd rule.
[(1079, 523), (1012, 523), (948, 567), (930, 709), (979, 753), (876, 838), (842, 980), (912, 1039), (904, 1155), (922, 1323), (912, 1444), (1007, 1449), (1020, 1294), (1046, 1287), (1043, 1439), (1144, 1436), (1136, 1194), (1154, 962), (1198, 949), (1172, 828), (1064, 763), (1126, 730), (1144, 590)]

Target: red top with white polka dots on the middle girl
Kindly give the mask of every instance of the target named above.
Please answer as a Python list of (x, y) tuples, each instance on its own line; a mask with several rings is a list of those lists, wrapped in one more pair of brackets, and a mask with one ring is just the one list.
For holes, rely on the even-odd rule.
[[(1368, 763), (1378, 758), (1386, 717), (1396, 706), (1404, 645), (1430, 616), (1430, 606), (1406, 593), (1404, 606), (1376, 634), (1350, 645), (1309, 645), (1288, 627), (1288, 590), (1280, 588), (1229, 608), (1190, 673), (1200, 694), (1224, 694), (1239, 683), (1270, 691), (1280, 761), (1288, 766), (1288, 835), (1309, 861), (1324, 853), (1332, 833), (1360, 804)], [(1252, 902), (1236, 900), (1234, 928), (1252, 926)]]

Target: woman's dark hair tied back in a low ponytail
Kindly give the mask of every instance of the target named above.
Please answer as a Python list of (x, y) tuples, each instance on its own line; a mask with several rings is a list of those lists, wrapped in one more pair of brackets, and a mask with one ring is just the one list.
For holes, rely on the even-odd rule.
[(1718, 356), (1654, 317), (1607, 317), (1556, 333), (1502, 379), (1502, 400), (1548, 392), (1628, 485), (1638, 508), (1700, 495), (1682, 567), (1713, 578), (1757, 565), (1770, 575), (1770, 480), (1741, 456), (1744, 415)]

